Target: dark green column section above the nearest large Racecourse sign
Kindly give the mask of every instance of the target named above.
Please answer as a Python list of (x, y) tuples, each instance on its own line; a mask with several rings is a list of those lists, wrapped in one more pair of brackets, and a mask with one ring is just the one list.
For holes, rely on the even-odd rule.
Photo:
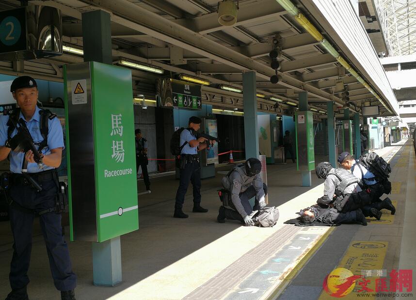
[(110, 14), (102, 10), (82, 13), (84, 62), (112, 64)]

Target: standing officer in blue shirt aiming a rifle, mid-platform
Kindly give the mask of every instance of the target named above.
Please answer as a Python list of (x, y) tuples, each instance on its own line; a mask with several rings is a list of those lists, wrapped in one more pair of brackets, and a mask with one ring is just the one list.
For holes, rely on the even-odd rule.
[(201, 119), (198, 117), (189, 118), (188, 128), (184, 129), (180, 134), (179, 144), (182, 147), (179, 169), (180, 183), (176, 191), (175, 213), (174, 218), (188, 218), (188, 215), (182, 211), (185, 194), (188, 189), (189, 182), (193, 187), (193, 209), (192, 212), (208, 212), (203, 208), (201, 203), (201, 167), (199, 165), (198, 151), (207, 148), (207, 139), (197, 138), (196, 131), (201, 126)]

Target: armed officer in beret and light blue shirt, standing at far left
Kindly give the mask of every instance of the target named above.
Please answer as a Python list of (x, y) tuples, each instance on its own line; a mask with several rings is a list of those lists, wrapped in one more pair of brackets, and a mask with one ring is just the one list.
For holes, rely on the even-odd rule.
[[(13, 80), (10, 91), (16, 99), (19, 109), (16, 117), (29, 130), (34, 144), (45, 140), (41, 134), (43, 112), (37, 107), (38, 89), (36, 81), (29, 76)], [(49, 266), (55, 287), (61, 291), (61, 299), (74, 300), (74, 288), (77, 277), (72, 272), (68, 246), (62, 234), (61, 214), (56, 202), (58, 199), (58, 174), (56, 168), (61, 164), (64, 137), (62, 126), (53, 114), (48, 115), (47, 144), (42, 149), (43, 166), (35, 162), (34, 153), (11, 151), (10, 140), (16, 135), (16, 128), (11, 134), (8, 128), (11, 116), (0, 116), (0, 161), (10, 157), (8, 198), (10, 202), (10, 223), (14, 237), (13, 258), (10, 266), (11, 293), (6, 300), (27, 300), (26, 286), (29, 284), (27, 275), (32, 250), (32, 224), (39, 216), (42, 233), (48, 251)], [(27, 173), (22, 174), (25, 166)], [(29, 178), (25, 179), (25, 178)], [(38, 183), (38, 191), (31, 184), (32, 179)], [(3, 186), (4, 188), (4, 186)]]

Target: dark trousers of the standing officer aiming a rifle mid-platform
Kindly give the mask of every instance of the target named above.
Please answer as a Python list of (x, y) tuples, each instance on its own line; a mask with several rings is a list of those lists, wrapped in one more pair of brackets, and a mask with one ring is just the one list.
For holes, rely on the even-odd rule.
[(176, 191), (175, 209), (182, 209), (189, 182), (193, 188), (193, 205), (201, 203), (201, 167), (199, 161), (193, 160), (180, 170), (179, 188)]

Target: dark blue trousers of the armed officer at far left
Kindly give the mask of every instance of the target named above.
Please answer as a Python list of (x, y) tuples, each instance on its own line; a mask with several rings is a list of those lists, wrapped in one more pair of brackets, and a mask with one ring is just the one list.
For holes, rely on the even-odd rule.
[[(10, 189), (10, 197), (20, 205), (37, 212), (54, 207), (58, 192), (55, 181), (48, 179), (39, 184), (42, 186), (40, 192), (30, 186), (14, 185)], [(12, 289), (19, 289), (29, 284), (27, 272), (31, 259), (32, 225), (35, 216), (14, 207), (10, 207), (9, 213), (15, 241), (9, 280)], [(68, 245), (62, 235), (61, 214), (45, 213), (39, 216), (39, 222), (55, 287), (60, 291), (73, 290), (77, 285), (77, 277), (72, 272)]]

